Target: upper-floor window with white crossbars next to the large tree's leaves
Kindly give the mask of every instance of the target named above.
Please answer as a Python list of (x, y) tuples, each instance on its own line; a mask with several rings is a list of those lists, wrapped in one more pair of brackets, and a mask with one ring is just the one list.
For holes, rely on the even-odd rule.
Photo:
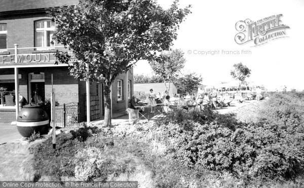
[(39, 20), (35, 22), (35, 47), (54, 46), (52, 41), (55, 32), (55, 24), (51, 20)]

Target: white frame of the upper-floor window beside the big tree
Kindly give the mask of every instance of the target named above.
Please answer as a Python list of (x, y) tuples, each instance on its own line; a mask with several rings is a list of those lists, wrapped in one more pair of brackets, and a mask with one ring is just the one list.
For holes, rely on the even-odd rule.
[[(47, 27), (47, 22), (50, 21), (51, 23), (51, 27)], [(43, 28), (36, 28), (37, 27), (37, 22), (44, 22), (44, 27)], [(53, 26), (52, 26), (52, 23), (53, 23)], [(52, 22), (51, 19), (43, 19), (43, 20), (36, 20), (34, 21), (34, 26), (35, 26), (35, 47), (37, 47), (36, 49), (37, 50), (51, 50), (51, 49), (55, 49), (54, 46), (55, 44), (51, 44), (51, 41), (52, 41), (52, 34), (50, 35), (50, 46), (47, 46), (48, 45), (48, 42), (47, 42), (47, 31), (55, 31), (55, 23)], [(37, 33), (38, 32), (43, 32), (44, 34), (44, 41), (42, 42), (42, 46), (36, 46), (36, 42), (37, 42)]]

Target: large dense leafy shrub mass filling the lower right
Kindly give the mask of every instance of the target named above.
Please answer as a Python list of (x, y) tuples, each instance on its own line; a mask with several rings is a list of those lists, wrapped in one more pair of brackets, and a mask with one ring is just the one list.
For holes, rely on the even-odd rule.
[(167, 154), (182, 169), (226, 171), (244, 186), (285, 181), (301, 175), (304, 167), (301, 100), (293, 94), (271, 99), (259, 122), (248, 124), (234, 115), (174, 112), (160, 132), (168, 138)]

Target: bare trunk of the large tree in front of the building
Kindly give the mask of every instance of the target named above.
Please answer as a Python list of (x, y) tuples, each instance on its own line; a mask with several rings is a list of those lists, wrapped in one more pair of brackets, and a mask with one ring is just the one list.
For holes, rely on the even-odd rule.
[(103, 125), (104, 126), (110, 126), (111, 125), (111, 98), (110, 98), (110, 90), (111, 84), (107, 83), (104, 84), (103, 88), (103, 98), (104, 98), (104, 120)]

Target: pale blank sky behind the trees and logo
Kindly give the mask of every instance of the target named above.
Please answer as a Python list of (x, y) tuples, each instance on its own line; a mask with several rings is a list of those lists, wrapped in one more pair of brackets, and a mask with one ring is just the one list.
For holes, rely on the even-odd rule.
[[(172, 2), (158, 1), (164, 9)], [(204, 85), (233, 82), (230, 71), (234, 64), (242, 62), (251, 69), (250, 82), (264, 84), (269, 89), (284, 85), (288, 90), (304, 89), (304, 0), (180, 0), (179, 8), (189, 4), (192, 14), (180, 24), (172, 46), (184, 52), (183, 72), (201, 74)], [(279, 14), (283, 15), (280, 23), (290, 27), (282, 35), (284, 38), (258, 46), (253, 41), (245, 44), (235, 41), (238, 21), (255, 22)], [(216, 54), (210, 54), (215, 51)], [(134, 67), (134, 73), (151, 75), (153, 70), (148, 62), (141, 61)]]

